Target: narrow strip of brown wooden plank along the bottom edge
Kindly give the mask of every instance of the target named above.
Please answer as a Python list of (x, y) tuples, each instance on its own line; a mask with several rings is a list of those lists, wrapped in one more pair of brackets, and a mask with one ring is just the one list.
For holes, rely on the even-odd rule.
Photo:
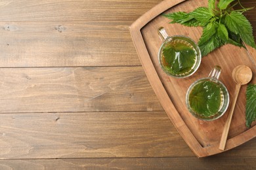
[(256, 169), (256, 158), (92, 158), (0, 160), (5, 169)]

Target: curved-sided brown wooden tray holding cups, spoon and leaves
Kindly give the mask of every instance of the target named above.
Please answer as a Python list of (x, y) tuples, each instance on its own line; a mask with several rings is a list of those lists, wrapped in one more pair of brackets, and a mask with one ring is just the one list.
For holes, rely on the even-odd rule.
[[(169, 24), (170, 21), (161, 14), (177, 11), (190, 12), (197, 7), (207, 7), (207, 0), (165, 0), (146, 12), (129, 28), (142, 67), (163, 109), (193, 152), (198, 157), (204, 157), (223, 152), (219, 150), (219, 141), (229, 109), (224, 116), (213, 122), (198, 120), (186, 109), (186, 91), (192, 82), (208, 76), (215, 65), (220, 65), (222, 67), (220, 80), (228, 88), (232, 103), (235, 88), (232, 70), (240, 64), (249, 66), (253, 70), (251, 83), (256, 83), (256, 52), (249, 46), (245, 50), (226, 44), (203, 57), (198, 71), (188, 78), (177, 79), (163, 73), (158, 64), (158, 50), (161, 45), (158, 27), (165, 27), (169, 35), (186, 35), (196, 42), (202, 35), (202, 28)], [(251, 128), (245, 127), (245, 90), (246, 86), (242, 86), (225, 150), (239, 146), (256, 136), (255, 122)]]

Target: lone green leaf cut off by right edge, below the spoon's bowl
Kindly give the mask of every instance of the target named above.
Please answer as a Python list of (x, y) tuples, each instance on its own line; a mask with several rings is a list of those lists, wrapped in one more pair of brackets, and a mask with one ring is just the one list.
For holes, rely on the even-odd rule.
[(256, 84), (248, 84), (246, 90), (246, 126), (256, 120)]

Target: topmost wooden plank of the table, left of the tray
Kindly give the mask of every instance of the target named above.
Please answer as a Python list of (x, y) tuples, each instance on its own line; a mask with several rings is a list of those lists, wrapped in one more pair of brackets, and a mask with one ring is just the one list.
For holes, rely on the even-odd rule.
[(0, 21), (135, 21), (162, 0), (1, 0)]

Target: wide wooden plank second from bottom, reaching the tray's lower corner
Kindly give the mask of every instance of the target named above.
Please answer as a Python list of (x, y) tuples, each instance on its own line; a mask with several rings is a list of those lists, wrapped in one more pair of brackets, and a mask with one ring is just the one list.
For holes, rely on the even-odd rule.
[(194, 156), (165, 112), (0, 114), (0, 159)]

